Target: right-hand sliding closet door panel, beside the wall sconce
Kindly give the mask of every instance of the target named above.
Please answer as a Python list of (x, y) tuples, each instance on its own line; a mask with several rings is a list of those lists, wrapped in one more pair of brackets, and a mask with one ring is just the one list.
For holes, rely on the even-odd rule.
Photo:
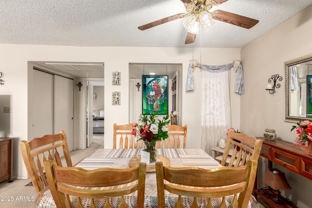
[(69, 151), (74, 149), (74, 80), (54, 77), (54, 133), (65, 131)]

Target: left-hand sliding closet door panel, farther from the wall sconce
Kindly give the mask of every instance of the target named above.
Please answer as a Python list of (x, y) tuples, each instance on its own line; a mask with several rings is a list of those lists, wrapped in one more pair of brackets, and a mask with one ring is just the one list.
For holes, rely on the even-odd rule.
[(34, 69), (33, 76), (33, 128), (29, 139), (53, 134), (53, 75)]

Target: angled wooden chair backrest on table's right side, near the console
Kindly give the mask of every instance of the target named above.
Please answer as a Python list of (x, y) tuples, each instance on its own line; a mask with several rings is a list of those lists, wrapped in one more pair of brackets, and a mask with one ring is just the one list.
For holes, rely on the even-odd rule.
[(245, 133), (236, 133), (230, 130), (224, 153), (221, 160), (222, 166), (238, 167), (245, 165), (247, 160), (258, 161), (262, 140)]

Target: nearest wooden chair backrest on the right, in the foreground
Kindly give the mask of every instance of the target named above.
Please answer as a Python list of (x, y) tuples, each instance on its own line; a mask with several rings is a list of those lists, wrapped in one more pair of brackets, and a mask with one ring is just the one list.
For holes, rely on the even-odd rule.
[[(196, 201), (197, 197), (208, 199), (207, 208), (212, 208), (212, 203), (217, 201), (221, 201), (220, 208), (227, 207), (225, 201), (231, 203), (231, 207), (246, 208), (254, 188), (257, 164), (257, 161), (249, 160), (241, 167), (205, 170), (197, 167), (163, 167), (162, 162), (156, 162), (158, 208), (165, 208), (165, 190), (178, 195), (176, 208), (184, 208), (181, 196), (194, 197), (194, 208), (197, 207), (194, 203), (200, 202)], [(226, 199), (226, 196), (233, 195), (232, 202), (230, 198)], [(192, 198), (185, 201), (190, 202)]]

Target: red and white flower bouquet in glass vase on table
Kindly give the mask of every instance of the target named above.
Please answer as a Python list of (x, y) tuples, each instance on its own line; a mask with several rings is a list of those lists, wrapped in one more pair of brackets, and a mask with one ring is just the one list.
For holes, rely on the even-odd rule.
[(139, 122), (133, 122), (132, 126), (135, 127), (132, 134), (137, 136), (138, 140), (143, 140), (145, 150), (150, 152), (150, 163), (156, 162), (156, 142), (168, 138), (167, 125), (170, 120), (169, 115), (159, 119), (157, 112), (150, 115), (140, 115)]

